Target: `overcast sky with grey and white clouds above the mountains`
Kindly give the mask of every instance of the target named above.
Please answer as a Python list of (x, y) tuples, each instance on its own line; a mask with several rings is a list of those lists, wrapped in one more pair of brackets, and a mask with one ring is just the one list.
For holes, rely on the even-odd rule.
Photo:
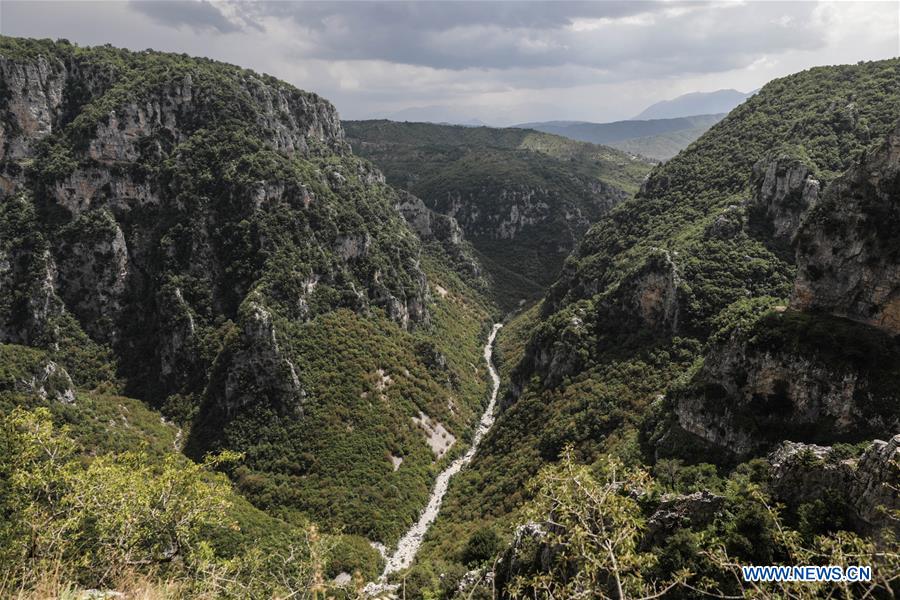
[(900, 1), (0, 1), (0, 32), (203, 55), (344, 118), (609, 121), (687, 92), (749, 91), (900, 55)]

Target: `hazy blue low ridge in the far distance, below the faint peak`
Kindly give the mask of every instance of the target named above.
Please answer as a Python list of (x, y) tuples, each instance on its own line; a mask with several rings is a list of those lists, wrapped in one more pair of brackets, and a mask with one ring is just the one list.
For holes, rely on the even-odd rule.
[(549, 121), (519, 127), (561, 135), (573, 140), (605, 144), (631, 154), (656, 160), (672, 158), (688, 144), (718, 123), (724, 114), (695, 115), (674, 119), (614, 121)]

